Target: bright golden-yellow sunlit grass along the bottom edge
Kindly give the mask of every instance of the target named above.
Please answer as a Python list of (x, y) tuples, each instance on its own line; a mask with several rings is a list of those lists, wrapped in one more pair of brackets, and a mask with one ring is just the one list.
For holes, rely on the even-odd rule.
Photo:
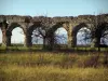
[(106, 68), (69, 68), (52, 66), (6, 66), (0, 69), (1, 81), (108, 81)]

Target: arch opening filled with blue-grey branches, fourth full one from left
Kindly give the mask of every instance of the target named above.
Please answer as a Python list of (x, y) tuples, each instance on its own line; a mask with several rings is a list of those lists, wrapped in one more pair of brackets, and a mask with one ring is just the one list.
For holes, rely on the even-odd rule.
[(86, 27), (82, 27), (77, 32), (77, 45), (78, 46), (90, 46), (91, 39), (91, 30)]

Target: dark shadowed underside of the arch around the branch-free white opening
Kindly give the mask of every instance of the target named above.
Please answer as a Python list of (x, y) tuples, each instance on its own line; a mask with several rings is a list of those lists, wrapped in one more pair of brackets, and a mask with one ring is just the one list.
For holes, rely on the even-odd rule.
[(21, 24), (18, 24), (18, 23), (11, 23), (10, 24), (10, 26), (8, 27), (8, 29), (6, 29), (6, 45), (8, 46), (10, 46), (11, 45), (11, 36), (12, 36), (12, 31), (13, 31), (13, 29), (14, 28), (17, 28), (17, 27), (19, 27), (21, 29), (23, 29), (23, 32), (24, 32), (24, 36), (25, 36), (25, 29), (24, 29), (24, 27), (21, 25)]

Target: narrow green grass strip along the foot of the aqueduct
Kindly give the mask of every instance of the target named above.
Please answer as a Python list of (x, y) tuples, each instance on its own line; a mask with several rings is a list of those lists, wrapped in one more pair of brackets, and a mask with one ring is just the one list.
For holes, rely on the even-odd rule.
[(71, 52), (71, 51), (108, 51), (108, 48), (65, 48), (65, 46), (60, 46), (60, 48), (54, 48), (53, 50), (51, 50), (50, 46), (45, 46), (43, 48), (42, 45), (33, 45), (30, 48), (27, 46), (21, 46), (21, 45), (13, 45), (13, 46), (0, 46), (0, 52), (9, 52), (9, 51), (67, 51), (67, 52)]

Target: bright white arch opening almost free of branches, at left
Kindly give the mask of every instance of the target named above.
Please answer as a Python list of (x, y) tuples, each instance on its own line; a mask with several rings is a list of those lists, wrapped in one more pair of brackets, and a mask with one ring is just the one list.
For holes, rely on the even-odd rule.
[(24, 44), (25, 35), (21, 27), (15, 27), (12, 29), (11, 43), (12, 44)]

